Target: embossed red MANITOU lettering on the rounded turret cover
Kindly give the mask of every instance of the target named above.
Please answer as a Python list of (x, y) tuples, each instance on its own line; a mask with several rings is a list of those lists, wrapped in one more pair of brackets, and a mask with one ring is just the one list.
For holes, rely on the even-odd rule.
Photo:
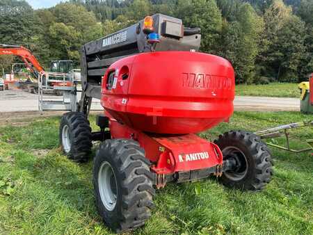
[(182, 86), (185, 88), (232, 89), (232, 79), (209, 74), (182, 73)]

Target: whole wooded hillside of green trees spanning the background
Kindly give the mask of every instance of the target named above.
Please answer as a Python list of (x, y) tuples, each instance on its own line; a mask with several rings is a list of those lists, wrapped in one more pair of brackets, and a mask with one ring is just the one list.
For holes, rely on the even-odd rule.
[(200, 27), (200, 50), (230, 60), (237, 83), (297, 81), (313, 71), (312, 0), (70, 0), (42, 10), (2, 0), (0, 43), (28, 47), (42, 65), (79, 60), (86, 42), (154, 13)]

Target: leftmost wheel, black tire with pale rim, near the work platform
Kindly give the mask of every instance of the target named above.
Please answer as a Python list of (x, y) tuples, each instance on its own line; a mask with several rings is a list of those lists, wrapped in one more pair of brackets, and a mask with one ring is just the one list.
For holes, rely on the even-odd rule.
[(88, 160), (93, 146), (90, 123), (83, 113), (65, 113), (61, 119), (60, 145), (69, 159), (76, 162)]

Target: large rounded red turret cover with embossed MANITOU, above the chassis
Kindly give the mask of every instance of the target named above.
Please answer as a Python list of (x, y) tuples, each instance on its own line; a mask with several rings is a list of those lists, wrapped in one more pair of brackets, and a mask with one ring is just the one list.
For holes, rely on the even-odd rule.
[[(114, 71), (109, 90), (106, 84)], [(129, 56), (113, 63), (102, 81), (106, 111), (131, 128), (152, 133), (198, 133), (214, 127), (232, 115), (233, 100), (232, 65), (196, 52)]]

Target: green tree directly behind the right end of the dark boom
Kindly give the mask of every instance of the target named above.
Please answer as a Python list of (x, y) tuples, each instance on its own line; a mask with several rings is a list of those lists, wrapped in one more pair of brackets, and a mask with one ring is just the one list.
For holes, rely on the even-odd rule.
[(178, 0), (176, 15), (185, 26), (201, 28), (202, 51), (218, 53), (222, 15), (215, 0)]

